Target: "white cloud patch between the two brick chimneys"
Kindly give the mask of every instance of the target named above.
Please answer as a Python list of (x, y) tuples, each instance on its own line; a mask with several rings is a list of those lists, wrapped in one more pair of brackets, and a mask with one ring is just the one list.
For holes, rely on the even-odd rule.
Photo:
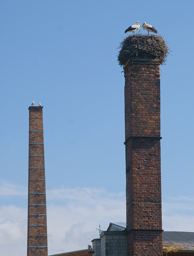
[[(109, 222), (126, 219), (124, 193), (110, 194), (96, 188), (52, 192), (47, 200), (49, 254), (87, 249), (92, 239), (99, 238), (99, 223), (100, 229), (106, 230)], [(61, 198), (65, 206), (54, 203), (54, 198)]]

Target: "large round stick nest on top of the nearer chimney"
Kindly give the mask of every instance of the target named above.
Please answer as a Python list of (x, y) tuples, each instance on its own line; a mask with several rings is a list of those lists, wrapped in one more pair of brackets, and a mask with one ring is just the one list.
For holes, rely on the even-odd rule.
[(158, 58), (161, 64), (165, 64), (170, 49), (162, 36), (142, 35), (126, 37), (121, 43), (118, 54), (118, 63), (123, 66), (130, 58)]

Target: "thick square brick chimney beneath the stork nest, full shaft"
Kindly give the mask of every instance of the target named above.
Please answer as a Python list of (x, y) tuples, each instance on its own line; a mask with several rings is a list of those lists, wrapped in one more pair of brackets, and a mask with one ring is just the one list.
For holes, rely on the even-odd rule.
[(162, 256), (159, 64), (124, 70), (128, 256)]

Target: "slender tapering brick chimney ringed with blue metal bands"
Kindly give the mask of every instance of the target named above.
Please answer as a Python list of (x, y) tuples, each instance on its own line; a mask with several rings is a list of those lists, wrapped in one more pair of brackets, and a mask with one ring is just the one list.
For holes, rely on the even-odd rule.
[(48, 256), (43, 107), (29, 107), (27, 256)]

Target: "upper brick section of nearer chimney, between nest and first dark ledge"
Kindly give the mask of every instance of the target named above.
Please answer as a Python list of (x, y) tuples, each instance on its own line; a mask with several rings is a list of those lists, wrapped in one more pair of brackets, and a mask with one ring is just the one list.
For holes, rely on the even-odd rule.
[(125, 68), (125, 113), (126, 138), (160, 136), (159, 64), (136, 63)]

